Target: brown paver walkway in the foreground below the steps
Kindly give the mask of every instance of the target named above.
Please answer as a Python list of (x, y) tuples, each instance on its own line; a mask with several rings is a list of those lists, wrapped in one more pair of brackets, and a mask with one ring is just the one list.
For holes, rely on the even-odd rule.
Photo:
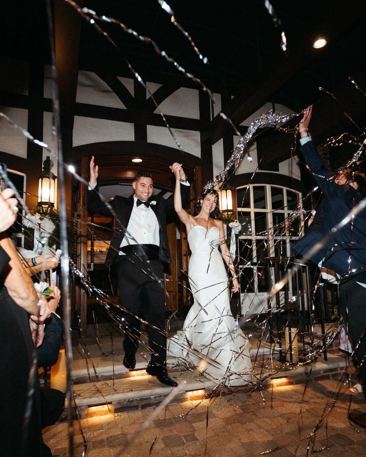
[[(287, 446), (273, 452), (273, 457), (293, 456), (297, 445), (296, 455), (305, 456), (308, 439), (299, 441), (299, 425), (302, 424), (301, 437), (308, 436), (339, 387), (340, 382), (334, 380), (309, 383), (302, 403), (304, 384), (273, 388), (273, 395), (272, 388), (267, 389), (263, 392), (265, 404), (259, 392), (214, 398), (210, 403), (197, 400), (170, 404), (141, 433), (141, 424), (153, 409), (90, 417), (81, 420), (88, 441), (86, 456), (250, 457), (282, 445)], [(322, 451), (321, 456), (366, 456), (366, 433), (357, 432), (347, 420), (349, 393), (349, 386), (342, 388), (329, 415), (329, 450)], [(197, 405), (196, 409), (185, 418), (176, 417), (187, 413), (193, 405)], [(351, 408), (359, 412), (366, 410), (362, 394), (352, 395)], [(74, 433), (74, 455), (79, 457), (84, 445), (77, 422)], [(67, 455), (66, 423), (48, 427), (43, 435), (54, 454)], [(314, 449), (322, 446), (327, 446), (325, 423), (316, 433)]]

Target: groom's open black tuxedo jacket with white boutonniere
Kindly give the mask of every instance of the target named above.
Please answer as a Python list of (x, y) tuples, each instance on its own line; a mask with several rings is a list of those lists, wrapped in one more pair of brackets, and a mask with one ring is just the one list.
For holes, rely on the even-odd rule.
[[(189, 201), (190, 195), (190, 186), (180, 186), (182, 204), (186, 204)], [(156, 202), (155, 204), (150, 204), (152, 211), (157, 217), (157, 222), (159, 224), (159, 257), (162, 262), (172, 263), (169, 253), (168, 238), (167, 238), (167, 213), (174, 212), (174, 199), (173, 195), (169, 198), (163, 198), (162, 195), (152, 195), (150, 202)], [(111, 266), (115, 260), (120, 244), (125, 237), (125, 229), (127, 229), (128, 223), (130, 221), (134, 198), (133, 194), (126, 198), (120, 197), (117, 195), (112, 201), (109, 202), (110, 206), (113, 208), (118, 220), (122, 224), (118, 223), (117, 219), (115, 221), (115, 231), (113, 233), (112, 241), (110, 242), (110, 248), (107, 252), (107, 258), (105, 260), (106, 266)], [(110, 213), (110, 210), (105, 206), (105, 203), (100, 200), (97, 192), (88, 191), (88, 211), (89, 213), (100, 214), (100, 216), (105, 216), (108, 218), (113, 218), (114, 216)]]

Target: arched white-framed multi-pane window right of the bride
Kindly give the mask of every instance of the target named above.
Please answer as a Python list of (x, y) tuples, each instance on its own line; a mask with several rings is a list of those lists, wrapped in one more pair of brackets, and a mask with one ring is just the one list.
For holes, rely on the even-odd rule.
[(270, 289), (268, 261), (289, 257), (303, 235), (301, 193), (282, 186), (249, 185), (236, 189), (241, 293)]

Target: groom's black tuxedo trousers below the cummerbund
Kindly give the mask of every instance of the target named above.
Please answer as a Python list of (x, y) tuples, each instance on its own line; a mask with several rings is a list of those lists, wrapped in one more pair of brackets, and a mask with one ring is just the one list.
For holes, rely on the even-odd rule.
[[(148, 323), (147, 335), (152, 351), (151, 362), (165, 366), (167, 338), (158, 330), (165, 332), (165, 291), (164, 268), (160, 260), (141, 262), (134, 255), (120, 255), (118, 260), (118, 286), (121, 305), (131, 314), (124, 313), (125, 351), (136, 352), (140, 340), (140, 321), (143, 317)], [(152, 272), (162, 280), (158, 283)], [(135, 317), (136, 316), (136, 317)]]

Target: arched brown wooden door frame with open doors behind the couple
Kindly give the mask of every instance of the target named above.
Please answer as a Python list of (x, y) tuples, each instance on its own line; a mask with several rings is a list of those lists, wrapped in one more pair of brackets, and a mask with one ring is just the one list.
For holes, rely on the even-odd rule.
[[(172, 159), (165, 157), (156, 157), (151, 155), (139, 154), (142, 164), (135, 164), (131, 159), (135, 155), (130, 154), (99, 154), (96, 156), (96, 163), (99, 165), (99, 186), (111, 184), (131, 184), (134, 176), (140, 170), (148, 170), (154, 177), (156, 187), (166, 191), (174, 191), (174, 178), (169, 169)], [(184, 159), (183, 159), (184, 162)], [(89, 157), (83, 156), (76, 160), (78, 174), (86, 181), (89, 178)], [(202, 190), (201, 167), (184, 163), (184, 170), (191, 182), (191, 205)], [(75, 265), (85, 274), (88, 264), (88, 212), (86, 204), (87, 186), (73, 178), (72, 181), (72, 258)], [(169, 298), (166, 300), (167, 310), (174, 312), (178, 309), (178, 303), (188, 303), (188, 244), (187, 235), (181, 229), (180, 243), (177, 243), (176, 221), (167, 225), (167, 234), (169, 240), (169, 249), (172, 257), (172, 265), (166, 270), (166, 287)], [(90, 265), (89, 265), (90, 268)], [(184, 272), (184, 273), (183, 273)], [(80, 327), (82, 335), (86, 335), (87, 325), (87, 296), (78, 278), (75, 277), (75, 287), (72, 288), (72, 309), (73, 324), (80, 317)], [(178, 283), (183, 283), (183, 287), (178, 288)], [(78, 317), (79, 316), (79, 317)]]

